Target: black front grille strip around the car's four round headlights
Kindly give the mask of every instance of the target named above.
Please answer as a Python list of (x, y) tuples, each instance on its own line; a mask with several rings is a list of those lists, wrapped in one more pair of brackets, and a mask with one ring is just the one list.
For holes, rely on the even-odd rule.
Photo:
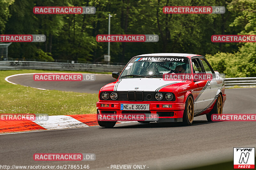
[[(109, 95), (112, 93), (112, 91), (106, 91), (109, 92)], [(103, 100), (101, 97), (101, 94), (103, 92), (100, 93), (100, 100)], [(112, 100), (110, 97), (108, 98), (108, 100), (103, 100), (103, 101), (138, 101), (138, 102), (150, 102), (150, 101), (157, 101), (159, 102), (159, 100), (156, 100), (155, 95), (157, 92), (155, 91), (116, 91), (116, 93), (118, 94), (118, 98), (116, 100)], [(167, 92), (161, 92), (163, 94), (163, 99), (160, 100), (162, 102), (174, 102), (176, 100), (174, 93), (173, 94), (173, 99), (171, 101), (167, 101), (165, 99), (165, 94)], [(147, 97), (148, 96), (148, 97)], [(151, 98), (150, 98), (151, 96)]]

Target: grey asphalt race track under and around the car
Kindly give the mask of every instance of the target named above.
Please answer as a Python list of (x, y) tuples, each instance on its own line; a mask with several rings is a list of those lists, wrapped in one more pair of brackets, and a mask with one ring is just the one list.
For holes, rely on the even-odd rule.
[[(107, 76), (106, 79), (111, 78)], [(8, 80), (28, 86), (29, 82), (24, 77), (17, 77)], [(99, 87), (104, 83), (100, 81)], [(50, 85), (46, 84), (44, 82), (44, 86), (36, 87), (50, 89)], [(96, 90), (95, 84), (88, 86)], [(62, 90), (81, 92), (79, 90), (89, 87), (69, 84)], [(226, 94), (224, 114), (255, 113), (256, 88), (226, 89)], [(116, 125), (113, 129), (97, 126), (4, 134), (0, 135), (1, 165), (76, 164), (108, 170), (110, 165), (128, 164), (146, 165), (145, 169), (184, 169), (232, 161), (233, 147), (256, 147), (255, 127), (255, 122), (208, 123), (204, 115), (196, 117), (192, 126), (129, 123)], [(34, 153), (95, 153), (96, 160), (34, 161)]]

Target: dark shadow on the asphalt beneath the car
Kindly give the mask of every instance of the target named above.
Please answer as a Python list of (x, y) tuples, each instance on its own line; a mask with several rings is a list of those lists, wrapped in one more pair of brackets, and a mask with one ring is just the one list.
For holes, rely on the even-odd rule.
[[(220, 122), (208, 122), (207, 120), (194, 120), (193, 124), (191, 126), (198, 126), (203, 124), (213, 124), (213, 123), (220, 123)], [(121, 125), (121, 124), (119, 124)], [(149, 124), (130, 124), (125, 125), (122, 124), (122, 126), (115, 126), (115, 129), (128, 129), (128, 128), (166, 128), (166, 127), (191, 127), (191, 126), (184, 126), (182, 123), (156, 123), (151, 122)]]

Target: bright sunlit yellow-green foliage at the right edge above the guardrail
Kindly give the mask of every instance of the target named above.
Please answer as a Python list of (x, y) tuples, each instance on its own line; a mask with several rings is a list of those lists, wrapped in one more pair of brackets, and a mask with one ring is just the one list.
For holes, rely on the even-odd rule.
[[(255, 35), (256, 33), (256, 1), (236, 0), (228, 5), (228, 10), (237, 13), (230, 27), (244, 28), (239, 34)], [(213, 67), (220, 69), (228, 77), (255, 77), (256, 76), (256, 44), (239, 43), (235, 53), (216, 53), (206, 55)]]

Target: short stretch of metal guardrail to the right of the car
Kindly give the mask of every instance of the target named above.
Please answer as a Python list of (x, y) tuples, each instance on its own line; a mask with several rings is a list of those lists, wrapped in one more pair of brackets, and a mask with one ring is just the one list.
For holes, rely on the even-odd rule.
[(256, 86), (256, 77), (238, 77), (238, 78), (226, 78), (225, 87), (253, 87)]

